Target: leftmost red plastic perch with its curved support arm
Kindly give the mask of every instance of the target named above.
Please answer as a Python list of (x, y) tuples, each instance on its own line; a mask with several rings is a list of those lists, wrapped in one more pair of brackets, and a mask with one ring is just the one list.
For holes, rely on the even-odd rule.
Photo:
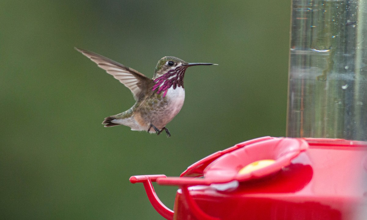
[(173, 211), (165, 206), (158, 198), (152, 182), (155, 182), (158, 178), (166, 178), (166, 175), (143, 175), (130, 177), (130, 183), (143, 183), (146, 195), (153, 208), (165, 219), (173, 220)]

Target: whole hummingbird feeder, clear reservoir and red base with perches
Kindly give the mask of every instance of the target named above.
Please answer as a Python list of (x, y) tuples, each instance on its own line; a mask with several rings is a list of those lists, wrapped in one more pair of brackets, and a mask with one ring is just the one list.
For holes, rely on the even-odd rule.
[[(367, 219), (367, 1), (293, 0), (287, 137), (211, 154), (143, 183), (168, 220)], [(152, 182), (176, 186), (174, 210)]]

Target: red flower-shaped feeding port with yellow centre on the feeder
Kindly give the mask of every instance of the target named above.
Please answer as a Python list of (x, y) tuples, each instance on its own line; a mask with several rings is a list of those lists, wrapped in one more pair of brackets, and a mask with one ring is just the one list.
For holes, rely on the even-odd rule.
[[(290, 165), (292, 159), (307, 148), (308, 143), (305, 140), (294, 138), (273, 138), (248, 144), (212, 162), (204, 170), (204, 179), (212, 183), (225, 183), (261, 178)], [(265, 161), (273, 162), (257, 169)], [(252, 170), (240, 172), (251, 164)]]

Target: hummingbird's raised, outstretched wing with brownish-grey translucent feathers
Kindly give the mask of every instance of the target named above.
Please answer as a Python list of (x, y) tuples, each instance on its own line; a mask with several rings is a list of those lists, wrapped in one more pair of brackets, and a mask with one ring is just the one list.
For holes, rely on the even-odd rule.
[(144, 74), (139, 73), (130, 67), (117, 63), (112, 59), (108, 59), (104, 56), (84, 49), (79, 49), (76, 47), (75, 49), (87, 56), (93, 62), (97, 63), (97, 65), (100, 68), (106, 70), (107, 73), (120, 80), (122, 84), (126, 85), (126, 87), (131, 90), (135, 100), (138, 100), (146, 92), (149, 92), (146, 91), (147, 88), (152, 88), (154, 84), (153, 80), (146, 77)]

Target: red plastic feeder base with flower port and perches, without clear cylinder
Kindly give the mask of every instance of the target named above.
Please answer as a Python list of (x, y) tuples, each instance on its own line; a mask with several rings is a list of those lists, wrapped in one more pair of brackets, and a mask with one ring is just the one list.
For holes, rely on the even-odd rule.
[[(261, 137), (218, 151), (180, 177), (132, 176), (170, 220), (367, 219), (367, 143)], [(174, 211), (152, 181), (178, 186)]]

